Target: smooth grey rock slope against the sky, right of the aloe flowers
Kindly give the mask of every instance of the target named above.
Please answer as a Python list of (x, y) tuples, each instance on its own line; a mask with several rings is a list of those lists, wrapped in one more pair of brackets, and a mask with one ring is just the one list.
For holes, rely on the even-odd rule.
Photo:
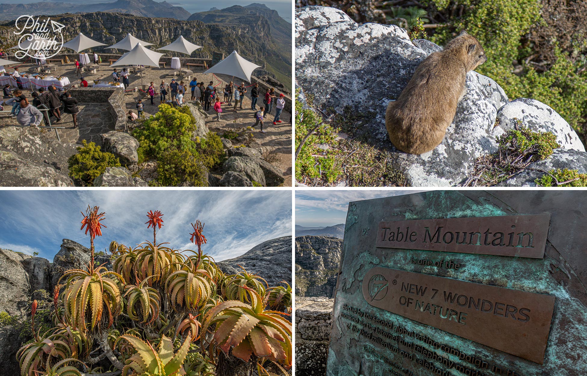
[(292, 238), (283, 236), (262, 242), (244, 255), (217, 263), (222, 272), (235, 274), (242, 266), (249, 273), (261, 276), (269, 287), (292, 284)]

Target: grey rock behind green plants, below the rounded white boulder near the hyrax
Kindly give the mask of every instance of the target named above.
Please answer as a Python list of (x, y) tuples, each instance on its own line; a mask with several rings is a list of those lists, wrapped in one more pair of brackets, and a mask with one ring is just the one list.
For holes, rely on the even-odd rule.
[(555, 149), (550, 157), (532, 162), (525, 170), (497, 184), (497, 187), (536, 187), (536, 179), (541, 178), (546, 172), (564, 168), (578, 170), (579, 174), (587, 174), (587, 153), (573, 149)]

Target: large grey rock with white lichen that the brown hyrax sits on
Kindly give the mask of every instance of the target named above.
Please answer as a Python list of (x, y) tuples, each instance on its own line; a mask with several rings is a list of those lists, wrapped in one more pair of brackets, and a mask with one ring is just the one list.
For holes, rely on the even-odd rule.
[[(313, 94), (313, 106), (327, 113), (360, 117), (352, 136), (374, 147), (408, 185), (463, 182), (476, 158), (497, 150), (496, 138), (514, 117), (535, 130), (554, 131), (565, 141), (565, 150), (584, 151), (575, 131), (548, 106), (527, 99), (508, 103), (497, 83), (476, 72), (467, 74), (466, 93), (442, 143), (422, 155), (397, 151), (384, 124), (387, 103), (399, 96), (420, 62), (441, 48), (427, 40), (412, 42), (398, 26), (358, 24), (342, 11), (322, 6), (296, 10), (295, 38), (297, 86)], [(498, 112), (503, 122), (496, 123)]]

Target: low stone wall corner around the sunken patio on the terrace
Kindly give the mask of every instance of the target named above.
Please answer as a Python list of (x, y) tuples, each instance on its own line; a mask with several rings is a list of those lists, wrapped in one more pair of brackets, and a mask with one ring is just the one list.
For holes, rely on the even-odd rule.
[(69, 89), (72, 97), (80, 103), (109, 103), (110, 115), (116, 119), (114, 129), (124, 131), (126, 128), (126, 105), (124, 90), (117, 87), (76, 87)]

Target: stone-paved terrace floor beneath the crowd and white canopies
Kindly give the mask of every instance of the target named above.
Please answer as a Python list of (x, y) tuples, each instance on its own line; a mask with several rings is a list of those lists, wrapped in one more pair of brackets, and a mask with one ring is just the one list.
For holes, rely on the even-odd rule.
[[(21, 72), (28, 72), (29, 67), (32, 67), (31, 63), (23, 64), (19, 67)], [(117, 70), (120, 72), (122, 70), (121, 67), (117, 67)], [(6, 67), (6, 72), (12, 72), (12, 69)], [(112, 80), (112, 72), (113, 69), (109, 67), (108, 63), (103, 62), (100, 65), (100, 70), (96, 71), (96, 73), (83, 73), (83, 76), (86, 78), (87, 82), (92, 82), (92, 80), (101, 80), (110, 82)], [(129, 89), (133, 89), (134, 87), (142, 88), (141, 86), (141, 76), (139, 72), (132, 73), (132, 69), (130, 69), (130, 86)], [(143, 69), (143, 84), (145, 86), (149, 86), (149, 83), (153, 81), (156, 84), (156, 91), (158, 92), (158, 84), (161, 80), (165, 80), (165, 82), (170, 83), (171, 79), (174, 77), (179, 82), (181, 80), (180, 76), (174, 76), (174, 72), (176, 70), (171, 69), (168, 65), (167, 68), (156, 68), (156, 67), (146, 67)], [(216, 74), (215, 76), (211, 73), (203, 74), (203, 70), (195, 71), (194, 75), (197, 78), (198, 82), (202, 81), (204, 83), (208, 83), (210, 81), (214, 82), (214, 85), (218, 84), (218, 89), (220, 89), (220, 99), (222, 100), (222, 90), (221, 88), (225, 86), (228, 82), (232, 80), (231, 76), (226, 76), (224, 74)], [(75, 65), (73, 63), (57, 65), (57, 68), (51, 74), (57, 74), (60, 76), (66, 76), (69, 78), (71, 84), (79, 84), (79, 79), (76, 78), (75, 74)], [(218, 81), (220, 79), (221, 81)], [(189, 84), (190, 79), (187, 77), (183, 78), (183, 81), (186, 85)], [(237, 86), (243, 82), (243, 80), (238, 79), (235, 77), (234, 83)], [(249, 86), (250, 83), (245, 82), (245, 86)], [(243, 101), (243, 108), (244, 110), (238, 110), (237, 113), (234, 113), (231, 109), (228, 109), (228, 105), (222, 105), (222, 116), (221, 121), (215, 121), (215, 112), (214, 110), (208, 111), (210, 117), (206, 120), (206, 125), (212, 131), (216, 131), (218, 134), (222, 135), (224, 131), (230, 130), (231, 128), (241, 128), (246, 126), (252, 126), (255, 122), (252, 117), (253, 111), (249, 110), (251, 107), (251, 87), (247, 88), (248, 93)], [(30, 97), (31, 90), (25, 89), (24, 90), (26, 96)], [(264, 94), (264, 90), (261, 90)], [(141, 92), (138, 90), (137, 92), (129, 92), (124, 95), (124, 100), (126, 104), (126, 111), (129, 110), (136, 111), (136, 102), (137, 100), (142, 99), (144, 104), (144, 111), (145, 114), (154, 114), (158, 110), (158, 105), (160, 104), (159, 96), (155, 96), (155, 106), (150, 106), (150, 99), (146, 96), (146, 93)], [(187, 93), (186, 99), (190, 99), (190, 93)], [(262, 98), (259, 97), (259, 101), (257, 106), (262, 105)], [(101, 144), (100, 140), (100, 133), (104, 133), (104, 131), (111, 130), (113, 128), (112, 124), (115, 121), (112, 118), (106, 118), (108, 111), (103, 111), (106, 108), (106, 104), (104, 107), (102, 105), (96, 106), (96, 104), (83, 104), (83, 110), (80, 107), (80, 114), (78, 115), (78, 124), (80, 127), (80, 131), (77, 132), (73, 129), (67, 130), (59, 130), (60, 137), (62, 134), (65, 135), (66, 140), (69, 142), (80, 143), (81, 140), (85, 137), (90, 137), (92, 141), (95, 141), (96, 144)], [(288, 103), (288, 106), (291, 106), (291, 101)], [(102, 112), (100, 112), (102, 111)], [(291, 179), (292, 179), (292, 123), (291, 123), (291, 115), (289, 114), (289, 107), (287, 110), (282, 113), (281, 120), (283, 123), (279, 123), (276, 126), (272, 124), (272, 120), (275, 115), (275, 109), (272, 110), (272, 113), (269, 114), (265, 120), (265, 130), (266, 133), (260, 133), (259, 130), (254, 130), (253, 134), (255, 137), (255, 141), (260, 145), (261, 149), (268, 153), (269, 151), (273, 151), (276, 154), (276, 162), (273, 162), (276, 167), (281, 171), (281, 173), (285, 177), (284, 186), (291, 186)], [(6, 117), (6, 113), (0, 115), (0, 124), (9, 124), (12, 122), (15, 123), (14, 120)], [(100, 117), (100, 114), (103, 116)], [(98, 120), (99, 119), (99, 120)], [(102, 123), (102, 124), (100, 124)], [(60, 126), (66, 126), (73, 128), (73, 123), (70, 115), (66, 115), (63, 118), (63, 121), (58, 123)], [(101, 129), (100, 129), (101, 128)], [(96, 136), (89, 136), (90, 134), (97, 133)], [(76, 134), (77, 133), (77, 134)], [(54, 132), (53, 132), (54, 134)], [(86, 138), (87, 140), (87, 138)], [(88, 140), (90, 141), (90, 140)]]

